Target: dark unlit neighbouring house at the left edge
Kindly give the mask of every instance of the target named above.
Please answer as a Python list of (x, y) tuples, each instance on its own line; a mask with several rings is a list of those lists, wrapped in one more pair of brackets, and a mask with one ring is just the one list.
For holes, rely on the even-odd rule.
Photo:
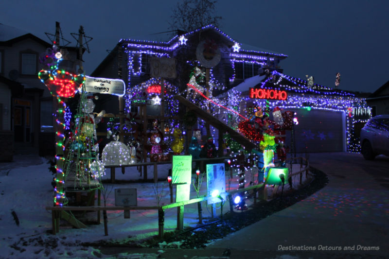
[[(0, 24), (0, 130), (14, 132), (13, 141), (39, 148), (41, 155), (54, 149), (55, 102), (37, 76), (42, 69), (39, 56), (49, 47), (35, 35)], [(41, 133), (46, 129), (52, 132), (49, 136)]]

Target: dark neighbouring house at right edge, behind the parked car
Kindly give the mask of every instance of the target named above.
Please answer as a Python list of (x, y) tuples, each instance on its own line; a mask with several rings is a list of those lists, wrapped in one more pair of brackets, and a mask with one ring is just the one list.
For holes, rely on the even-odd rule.
[(371, 106), (371, 116), (389, 114), (389, 81), (366, 98), (366, 102)]

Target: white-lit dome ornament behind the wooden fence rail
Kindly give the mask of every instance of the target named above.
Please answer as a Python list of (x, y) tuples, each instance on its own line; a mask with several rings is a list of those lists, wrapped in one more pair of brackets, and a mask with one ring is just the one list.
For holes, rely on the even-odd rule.
[(103, 149), (101, 158), (105, 166), (127, 165), (130, 163), (130, 151), (124, 143), (111, 141)]

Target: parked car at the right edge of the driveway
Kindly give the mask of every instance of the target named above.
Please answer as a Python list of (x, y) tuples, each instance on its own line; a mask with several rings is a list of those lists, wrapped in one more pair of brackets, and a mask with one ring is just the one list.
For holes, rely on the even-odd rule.
[(389, 115), (377, 115), (366, 122), (361, 130), (361, 153), (366, 160), (389, 156)]

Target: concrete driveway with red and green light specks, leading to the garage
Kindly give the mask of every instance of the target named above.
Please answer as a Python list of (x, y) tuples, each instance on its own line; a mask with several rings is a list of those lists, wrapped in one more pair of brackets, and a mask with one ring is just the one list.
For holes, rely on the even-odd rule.
[[(377, 168), (386, 170), (388, 182), (389, 157), (364, 161), (360, 154), (322, 153), (310, 154), (309, 161), (312, 167), (329, 176), (326, 187), (206, 250), (212, 253), (212, 249), (230, 249), (238, 254), (241, 251), (241, 255), (251, 251), (303, 258), (389, 255), (389, 190), (371, 175)], [(238, 254), (231, 252), (230, 258), (241, 258)]]

